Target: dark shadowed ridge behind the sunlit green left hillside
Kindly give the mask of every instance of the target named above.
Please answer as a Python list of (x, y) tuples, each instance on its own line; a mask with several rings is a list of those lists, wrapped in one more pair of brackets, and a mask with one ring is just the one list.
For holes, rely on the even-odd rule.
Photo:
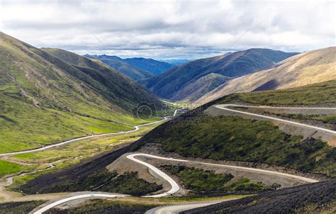
[[(91, 77), (91, 79), (84, 79), (86, 84), (91, 85), (109, 101), (117, 103), (118, 106), (122, 106), (127, 111), (142, 101), (155, 103), (157, 107), (160, 106), (160, 102), (145, 91), (142, 86), (125, 78), (123, 74), (111, 67), (66, 50), (52, 48), (44, 48), (43, 50), (60, 60), (72, 64), (83, 74)], [(92, 79), (94, 79), (94, 82)]]

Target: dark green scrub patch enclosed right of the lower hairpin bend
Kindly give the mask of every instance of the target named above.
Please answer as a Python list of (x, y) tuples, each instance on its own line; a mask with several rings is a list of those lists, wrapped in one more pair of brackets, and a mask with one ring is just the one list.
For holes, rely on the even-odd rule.
[(215, 171), (196, 169), (184, 166), (164, 166), (164, 170), (169, 171), (181, 179), (184, 186), (197, 193), (222, 191), (233, 192), (257, 192), (276, 189), (279, 185), (267, 186), (262, 182), (253, 183), (250, 179), (240, 178), (235, 182), (231, 174), (216, 174)]

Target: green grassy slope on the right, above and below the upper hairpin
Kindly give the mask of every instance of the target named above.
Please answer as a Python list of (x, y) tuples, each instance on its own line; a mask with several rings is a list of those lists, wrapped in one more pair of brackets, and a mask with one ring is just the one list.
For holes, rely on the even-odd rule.
[(198, 111), (237, 98), (267, 104), (330, 103), (335, 102), (332, 93), (335, 93), (335, 81), (284, 91), (225, 96), (189, 115), (160, 125), (138, 143), (159, 143), (167, 152), (178, 152), (186, 157), (264, 162), (333, 177), (336, 176), (336, 148), (325, 142), (314, 139), (301, 142), (300, 136), (282, 133), (267, 121), (209, 117)]

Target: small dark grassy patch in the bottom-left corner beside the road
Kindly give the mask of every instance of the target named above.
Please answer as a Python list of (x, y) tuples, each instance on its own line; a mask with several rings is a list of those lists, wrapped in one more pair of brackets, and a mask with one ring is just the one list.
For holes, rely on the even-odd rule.
[(0, 203), (1, 214), (24, 214), (29, 213), (34, 208), (45, 203), (46, 201), (23, 201), (23, 202), (11, 202)]

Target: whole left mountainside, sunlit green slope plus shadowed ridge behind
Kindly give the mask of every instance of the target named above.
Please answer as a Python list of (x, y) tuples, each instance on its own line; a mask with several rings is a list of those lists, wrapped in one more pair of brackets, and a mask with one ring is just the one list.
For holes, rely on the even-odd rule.
[(69, 54), (74, 67), (0, 33), (0, 153), (133, 129), (130, 109), (160, 102), (113, 69)]

